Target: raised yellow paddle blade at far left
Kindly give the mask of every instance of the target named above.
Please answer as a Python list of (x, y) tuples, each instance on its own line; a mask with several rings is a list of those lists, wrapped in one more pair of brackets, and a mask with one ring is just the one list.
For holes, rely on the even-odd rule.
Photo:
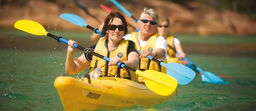
[(28, 32), (30, 34), (39, 35), (39, 36), (42, 36), (42, 35), (47, 36), (47, 33), (48, 33), (46, 32), (45, 28), (41, 24), (32, 20), (19, 20), (14, 24), (14, 27), (16, 29)]

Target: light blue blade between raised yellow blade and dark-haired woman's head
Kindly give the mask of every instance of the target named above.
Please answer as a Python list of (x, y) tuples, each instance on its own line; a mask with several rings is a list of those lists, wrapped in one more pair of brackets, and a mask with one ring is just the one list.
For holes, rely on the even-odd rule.
[(87, 27), (87, 23), (81, 18), (80, 16), (77, 16), (75, 14), (69, 14), (69, 13), (63, 13), (59, 16), (60, 18), (69, 21), (70, 23), (73, 23), (74, 25), (78, 25), (81, 27)]

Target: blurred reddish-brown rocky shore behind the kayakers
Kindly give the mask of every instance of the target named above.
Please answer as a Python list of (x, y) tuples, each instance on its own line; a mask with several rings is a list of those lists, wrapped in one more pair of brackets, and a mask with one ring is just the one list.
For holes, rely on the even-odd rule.
[[(72, 13), (81, 16), (89, 25), (98, 28), (100, 24), (77, 7), (72, 0), (64, 1), (62, 5), (43, 0), (28, 0), (28, 3), (21, 6), (2, 5), (0, 7), (0, 27), (13, 28), (13, 24), (17, 20), (26, 19), (37, 21), (48, 29), (88, 31), (88, 29), (72, 25), (59, 18), (61, 13)], [(107, 0), (102, 1), (102, 3), (85, 0), (81, 3), (101, 21), (108, 13), (100, 9), (100, 4), (107, 5), (115, 11), (120, 11)], [(256, 35), (256, 22), (250, 20), (247, 16), (229, 10), (217, 11), (213, 7), (199, 2), (188, 2), (186, 7), (164, 0), (130, 0), (121, 1), (120, 3), (136, 18), (139, 18), (144, 7), (156, 9), (160, 16), (169, 18), (172, 33)], [(126, 19), (132, 25), (137, 26), (132, 18), (126, 16)], [(133, 30), (130, 29), (130, 31)]]

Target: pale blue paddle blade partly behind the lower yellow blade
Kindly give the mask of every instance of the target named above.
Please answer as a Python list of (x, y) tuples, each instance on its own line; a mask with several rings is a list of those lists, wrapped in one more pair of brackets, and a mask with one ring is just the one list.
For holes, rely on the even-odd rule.
[(188, 84), (195, 78), (195, 72), (182, 64), (168, 63), (167, 65), (165, 66), (166, 73), (174, 77), (178, 81), (178, 84)]

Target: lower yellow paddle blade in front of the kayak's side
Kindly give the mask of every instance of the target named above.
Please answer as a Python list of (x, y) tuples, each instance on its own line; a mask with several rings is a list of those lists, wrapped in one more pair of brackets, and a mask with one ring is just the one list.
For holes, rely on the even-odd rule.
[(170, 95), (178, 85), (177, 80), (173, 77), (155, 70), (136, 70), (135, 73), (143, 77), (146, 86), (158, 95)]

